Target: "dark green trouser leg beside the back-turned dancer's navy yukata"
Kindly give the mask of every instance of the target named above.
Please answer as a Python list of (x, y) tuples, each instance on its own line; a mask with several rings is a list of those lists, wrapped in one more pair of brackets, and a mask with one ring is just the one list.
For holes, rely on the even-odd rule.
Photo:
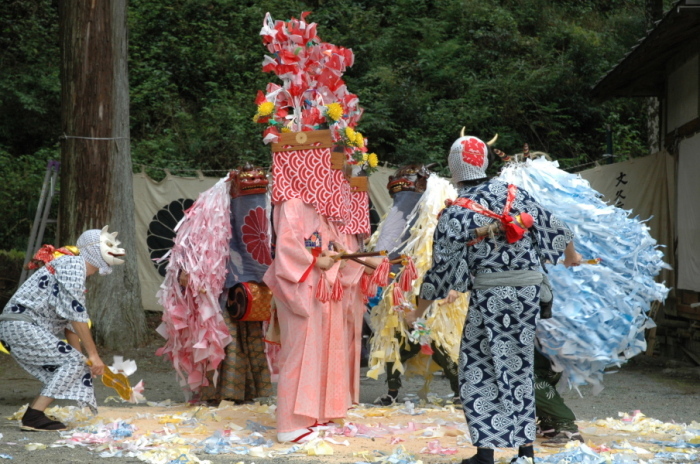
[(535, 411), (540, 428), (576, 433), (576, 416), (556, 388), (559, 379), (561, 372), (554, 372), (549, 359), (535, 350)]

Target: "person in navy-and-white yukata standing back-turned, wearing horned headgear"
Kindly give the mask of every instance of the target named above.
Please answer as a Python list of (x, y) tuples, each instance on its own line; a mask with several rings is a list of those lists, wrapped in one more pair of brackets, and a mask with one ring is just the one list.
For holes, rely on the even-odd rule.
[(487, 177), (489, 158), (493, 150), (476, 137), (463, 135), (452, 145), (448, 163), (459, 198), (441, 213), (432, 268), (411, 313), (421, 317), (434, 300), (471, 292), (458, 368), (477, 453), (462, 464), (491, 464), (494, 448), (516, 447), (519, 457), (534, 461), (540, 259), (581, 262), (562, 221), (525, 190)]

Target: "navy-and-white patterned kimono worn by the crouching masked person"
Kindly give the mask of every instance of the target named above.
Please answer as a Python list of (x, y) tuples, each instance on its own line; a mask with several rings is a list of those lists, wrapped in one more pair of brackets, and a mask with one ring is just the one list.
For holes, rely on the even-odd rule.
[(0, 341), (17, 363), (44, 383), (42, 396), (75, 400), (97, 412), (90, 368), (63, 341), (71, 322), (88, 322), (85, 259), (64, 255), (37, 270), (3, 310)]

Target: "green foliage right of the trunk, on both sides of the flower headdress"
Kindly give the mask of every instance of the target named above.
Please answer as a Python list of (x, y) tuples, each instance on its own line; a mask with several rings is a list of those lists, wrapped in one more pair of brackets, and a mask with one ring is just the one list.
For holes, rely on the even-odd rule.
[[(499, 133), (506, 151), (528, 142), (579, 164), (603, 153), (607, 122), (625, 124), (642, 107), (605, 106), (588, 95), (643, 34), (641, 1), (302, 3), (132, 2), (135, 163), (269, 162), (250, 120), (255, 92), (276, 81), (259, 71), (265, 11), (286, 19), (312, 7), (321, 37), (353, 49), (346, 81), (366, 109), (360, 130), (384, 161), (444, 165), (466, 126), (483, 138)], [(634, 127), (620, 148), (638, 153), (644, 131)]]

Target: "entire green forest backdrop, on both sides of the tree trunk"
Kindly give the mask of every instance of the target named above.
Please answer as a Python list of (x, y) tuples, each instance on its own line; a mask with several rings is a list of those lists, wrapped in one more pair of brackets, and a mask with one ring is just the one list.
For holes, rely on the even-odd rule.
[[(324, 41), (354, 51), (345, 80), (382, 162), (444, 170), (463, 126), (482, 138), (498, 133), (507, 153), (527, 142), (569, 169), (602, 160), (608, 130), (616, 159), (648, 153), (644, 101), (590, 98), (644, 36), (644, 0), (131, 0), (128, 8), (135, 170), (223, 175), (245, 161), (269, 165), (252, 120), (256, 92), (276, 80), (261, 71), (268, 11), (274, 19), (311, 11)], [(47, 161), (60, 159), (60, 60), (58, 0), (3, 1), (6, 256), (23, 254), (12, 250), (26, 248)]]

